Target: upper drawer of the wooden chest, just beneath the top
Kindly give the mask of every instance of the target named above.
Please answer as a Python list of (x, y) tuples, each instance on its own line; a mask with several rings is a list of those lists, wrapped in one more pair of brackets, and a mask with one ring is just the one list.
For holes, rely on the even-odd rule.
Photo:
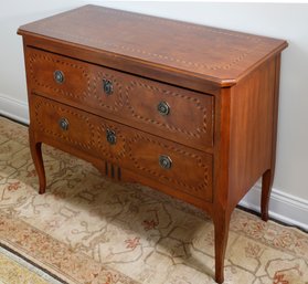
[(198, 149), (213, 145), (213, 96), (26, 49), (33, 93)]

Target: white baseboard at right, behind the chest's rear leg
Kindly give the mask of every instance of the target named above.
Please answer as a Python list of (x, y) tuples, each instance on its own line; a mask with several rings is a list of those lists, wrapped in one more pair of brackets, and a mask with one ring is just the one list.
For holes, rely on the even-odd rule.
[[(255, 185), (240, 206), (259, 212), (261, 185)], [(269, 218), (308, 231), (308, 200), (273, 188), (269, 201)]]

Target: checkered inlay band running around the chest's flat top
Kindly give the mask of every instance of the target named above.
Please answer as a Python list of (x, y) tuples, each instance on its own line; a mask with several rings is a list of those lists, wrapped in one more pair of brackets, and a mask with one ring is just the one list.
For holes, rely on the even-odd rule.
[[(96, 7), (96, 9), (97, 9), (97, 7)], [(61, 15), (57, 15), (57, 20), (59, 21), (61, 19), (65, 19), (65, 20), (71, 19), (71, 21), (76, 20), (75, 17), (76, 17), (76, 14), (78, 14), (79, 15), (79, 21), (82, 21), (85, 11), (96, 12), (95, 9), (92, 6), (88, 6), (88, 7), (85, 7), (83, 9), (76, 9), (76, 10), (63, 13)], [(204, 32), (211, 32), (211, 33), (216, 33), (216, 34), (223, 34), (223, 35), (232, 36), (232, 38), (240, 38), (240, 39), (244, 39), (244, 40), (247, 40), (247, 41), (252, 41), (255, 48), (257, 48), (263, 42), (262, 39), (259, 36), (256, 36), (256, 35), (251, 35), (251, 34), (240, 33), (240, 32), (232, 32), (232, 31), (217, 29), (217, 28), (211, 28), (211, 27), (201, 25), (201, 24), (199, 25), (199, 24), (192, 24), (192, 23), (188, 23), (188, 22), (173, 21), (173, 20), (152, 17), (152, 15), (131, 13), (131, 12), (126, 12), (126, 11), (121, 11), (121, 10), (108, 9), (108, 8), (99, 9), (98, 12), (99, 13), (105, 13), (105, 14), (111, 14), (114, 17), (125, 15), (125, 17), (135, 18), (135, 19), (138, 18), (140, 20), (146, 20), (146, 21), (153, 22), (153, 23), (163, 23), (167, 27), (168, 25), (176, 25), (176, 27), (180, 27), (181, 29), (185, 29), (185, 30), (198, 30), (199, 32), (204, 31)], [(67, 31), (65, 31), (65, 27), (63, 27), (62, 30), (55, 30), (55, 29), (52, 28), (53, 21), (54, 21), (53, 18), (45, 19), (43, 22), (40, 23), (39, 27), (35, 27), (35, 30), (39, 31), (39, 32), (41, 31), (42, 33), (45, 33), (45, 32), (55, 33), (59, 36), (63, 36), (64, 39), (76, 40), (77, 42), (78, 41), (86, 41), (87, 43), (94, 43), (96, 45), (98, 44), (99, 48), (111, 48), (111, 49), (116, 49), (116, 50), (119, 50), (119, 51), (128, 51), (128, 52), (139, 54), (139, 55), (140, 54), (141, 55), (147, 55), (151, 59), (159, 59), (159, 60), (163, 60), (163, 61), (168, 61), (168, 62), (180, 63), (183, 66), (197, 67), (197, 69), (200, 69), (200, 70), (210, 70), (210, 71), (230, 70), (232, 66), (234, 66), (238, 62), (243, 61), (251, 52), (253, 52), (253, 50), (242, 51), (241, 54), (235, 56), (231, 61), (231, 63), (229, 63), (229, 64), (222, 64), (222, 65), (212, 64), (212, 65), (209, 65), (204, 62), (201, 63), (201, 62), (185, 61), (185, 60), (174, 57), (174, 56), (171, 56), (171, 55), (163, 55), (163, 54), (160, 54), (160, 53), (149, 52), (147, 50), (137, 49), (137, 48), (132, 48), (132, 46), (129, 46), (129, 45), (120, 45), (120, 44), (110, 43), (110, 42), (108, 42), (108, 39), (100, 40), (98, 38), (93, 38), (93, 36), (72, 34), (72, 33), (68, 33)], [(86, 24), (85, 21), (82, 21), (82, 22), (84, 24)]]

